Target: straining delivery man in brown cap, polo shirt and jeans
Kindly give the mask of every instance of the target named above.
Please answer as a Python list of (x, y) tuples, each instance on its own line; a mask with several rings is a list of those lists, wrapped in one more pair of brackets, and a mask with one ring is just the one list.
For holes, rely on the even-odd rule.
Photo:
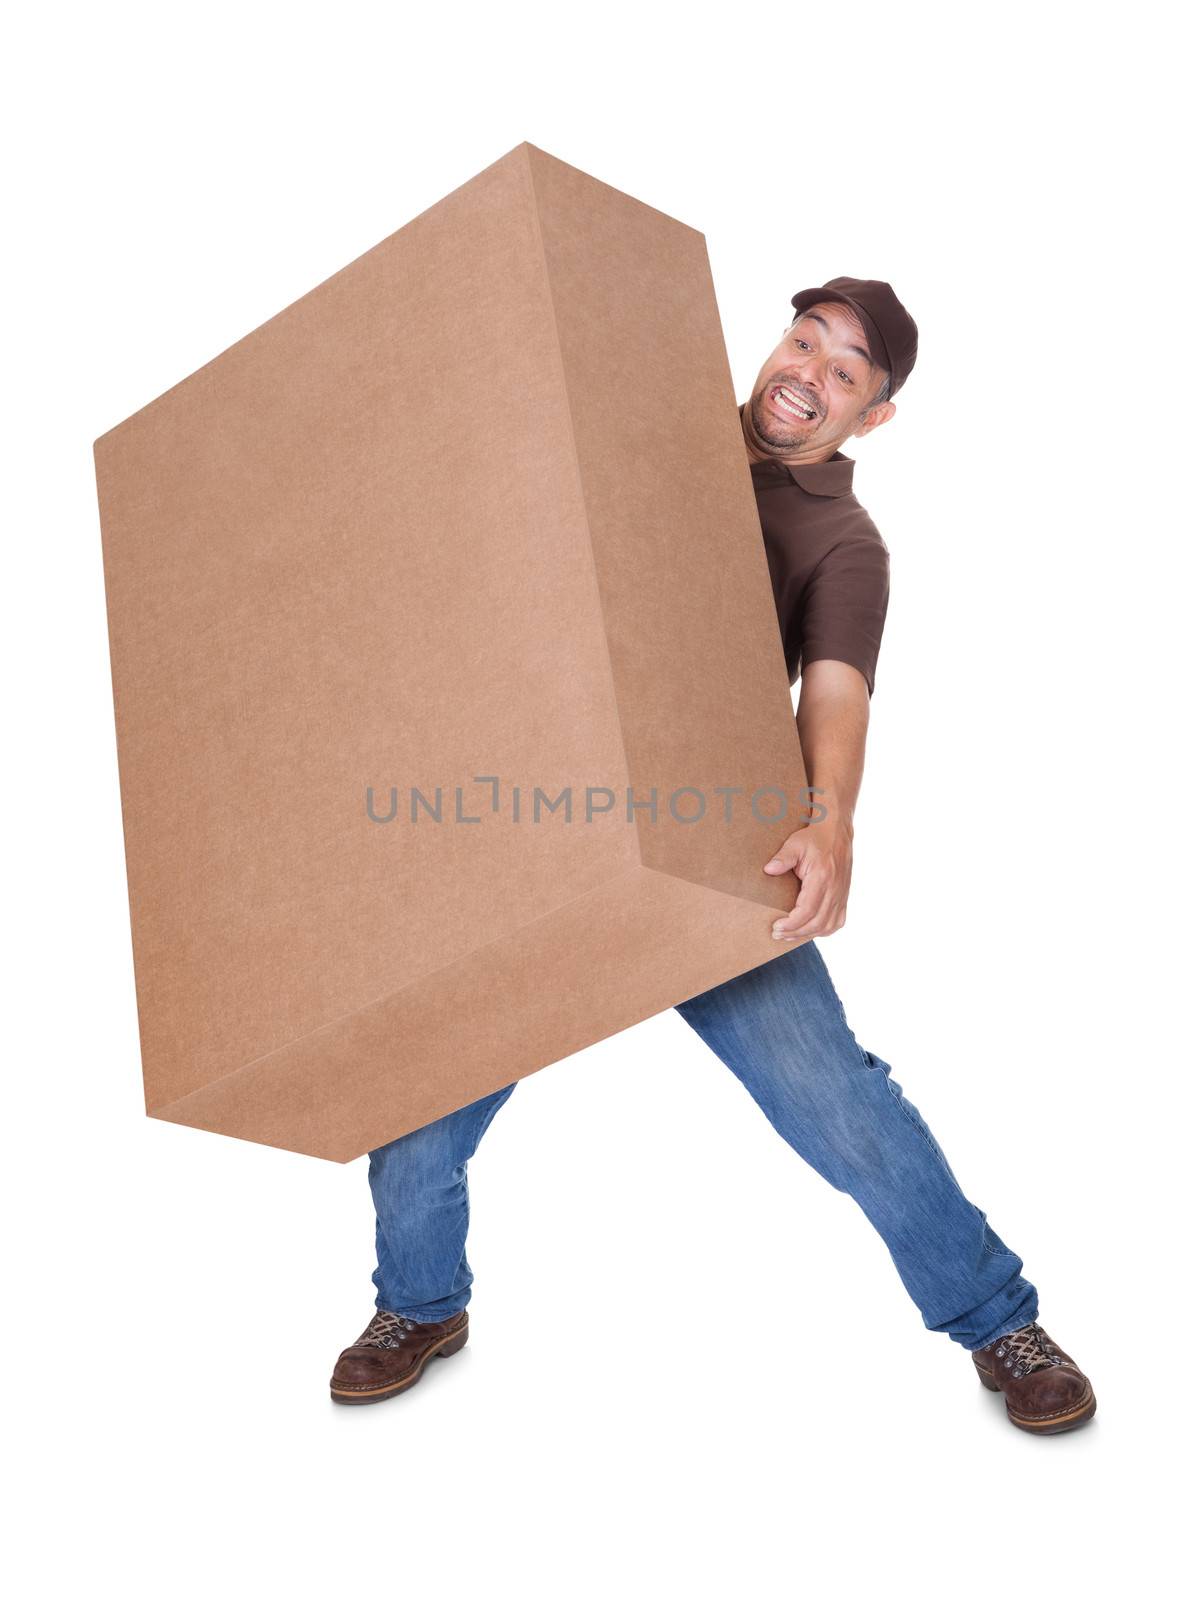
[[(926, 1328), (971, 1352), (1017, 1427), (1055, 1434), (1094, 1416), (1091, 1382), (1038, 1325), (1020, 1258), (963, 1194), (889, 1064), (857, 1043), (814, 942), (844, 923), (889, 598), (889, 555), (852, 494), (854, 462), (840, 446), (892, 418), (918, 330), (876, 280), (830, 278), (792, 304), (795, 320), (739, 413), (790, 682), (801, 674), (803, 758), (825, 814), (790, 834), (764, 867), (801, 883), (795, 909), (771, 926), (795, 947), (675, 1010), (782, 1138), (856, 1200)], [(433, 1355), (465, 1344), (467, 1163), (513, 1088), (371, 1152), (377, 1309), (337, 1358), (334, 1400), (403, 1394)]]

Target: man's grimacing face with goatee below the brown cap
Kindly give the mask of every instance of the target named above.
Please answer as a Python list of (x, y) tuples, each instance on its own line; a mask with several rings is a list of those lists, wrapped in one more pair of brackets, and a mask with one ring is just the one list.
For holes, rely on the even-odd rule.
[(884, 378), (851, 307), (811, 306), (785, 330), (753, 384), (744, 414), (750, 459), (827, 461), (846, 438), (860, 438), (894, 414), (892, 400), (876, 402)]

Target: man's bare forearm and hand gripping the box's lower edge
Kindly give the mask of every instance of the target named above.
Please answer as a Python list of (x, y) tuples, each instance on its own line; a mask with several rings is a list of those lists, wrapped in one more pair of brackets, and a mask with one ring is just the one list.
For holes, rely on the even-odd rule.
[(766, 862), (766, 872), (801, 880), (795, 909), (774, 923), (776, 939), (796, 944), (844, 925), (852, 880), (852, 818), (864, 776), (868, 685), (846, 661), (811, 661), (798, 694), (798, 741), (806, 781), (827, 811), (822, 822), (796, 829)]

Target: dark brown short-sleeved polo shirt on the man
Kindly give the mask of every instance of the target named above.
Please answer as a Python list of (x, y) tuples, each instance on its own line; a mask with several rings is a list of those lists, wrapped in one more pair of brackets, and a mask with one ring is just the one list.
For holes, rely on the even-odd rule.
[[(737, 406), (737, 416), (744, 410)], [(872, 694), (889, 605), (889, 552), (852, 494), (854, 467), (836, 451), (809, 467), (753, 461), (748, 470), (790, 682), (808, 661), (846, 661)]]

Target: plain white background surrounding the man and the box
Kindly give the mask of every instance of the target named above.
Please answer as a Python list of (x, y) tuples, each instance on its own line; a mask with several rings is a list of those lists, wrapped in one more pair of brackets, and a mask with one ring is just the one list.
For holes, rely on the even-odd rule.
[[(1177, 1365), (1177, 85), (1150, 5), (26, 8), (5, 69), (5, 1434), (21, 1594), (1164, 1592)], [(921, 328), (822, 949), (1099, 1416), (1012, 1429), (675, 1013), (472, 1163), (472, 1338), (329, 1405), (365, 1163), (142, 1115), (91, 442), (521, 139), (705, 232), (737, 397)], [(670, 930), (680, 936), (678, 928)], [(10, 1506), (11, 1509), (11, 1506)]]

